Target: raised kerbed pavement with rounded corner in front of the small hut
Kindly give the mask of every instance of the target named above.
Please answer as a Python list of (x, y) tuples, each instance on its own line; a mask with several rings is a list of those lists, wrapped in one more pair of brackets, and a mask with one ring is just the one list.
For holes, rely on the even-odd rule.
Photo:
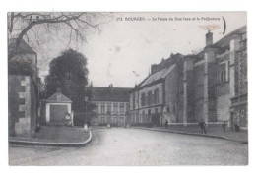
[(33, 137), (9, 137), (9, 144), (82, 146), (90, 143), (92, 132), (79, 127), (41, 126)]

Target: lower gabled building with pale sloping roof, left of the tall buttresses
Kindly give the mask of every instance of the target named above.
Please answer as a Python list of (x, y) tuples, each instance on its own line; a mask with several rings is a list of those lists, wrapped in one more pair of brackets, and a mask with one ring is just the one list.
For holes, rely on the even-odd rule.
[[(151, 74), (130, 91), (131, 124), (160, 125), (165, 119), (176, 121), (172, 113), (177, 110), (176, 95), (182, 57), (181, 54), (171, 55), (166, 60), (162, 59), (160, 64), (152, 65)], [(171, 116), (164, 117), (163, 112), (171, 112)]]

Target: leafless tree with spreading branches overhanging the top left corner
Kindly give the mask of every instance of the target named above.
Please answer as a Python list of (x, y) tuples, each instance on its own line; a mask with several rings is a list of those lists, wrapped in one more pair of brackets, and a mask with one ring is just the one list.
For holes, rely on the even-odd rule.
[(26, 37), (26, 42), (38, 52), (49, 39), (65, 37), (66, 44), (79, 40), (86, 41), (87, 33), (100, 31), (100, 25), (111, 21), (110, 13), (87, 12), (11, 12), (8, 13), (8, 44), (16, 38), (16, 44), (9, 59), (13, 58), (19, 49), (21, 40)]

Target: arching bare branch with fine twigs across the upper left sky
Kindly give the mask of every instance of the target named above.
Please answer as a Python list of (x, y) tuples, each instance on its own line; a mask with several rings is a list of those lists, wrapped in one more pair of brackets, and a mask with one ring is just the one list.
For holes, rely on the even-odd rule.
[[(101, 15), (101, 14), (100, 14)], [(54, 12), (54, 13), (20, 13), (20, 12), (11, 12), (8, 15), (8, 32), (9, 32), (9, 43), (11, 38), (16, 38), (15, 49), (18, 50), (21, 40), (27, 35), (27, 39), (30, 37), (28, 34), (32, 29), (38, 29), (34, 33), (40, 34), (37, 27), (43, 26), (46, 24), (45, 30), (50, 34), (51, 29), (55, 28), (57, 31), (61, 31), (61, 26), (66, 26), (67, 28), (64, 31), (67, 31), (69, 28), (72, 31), (69, 31), (69, 40), (68, 45), (72, 42), (73, 36), (75, 41), (81, 40), (86, 41), (86, 33), (89, 28), (99, 29), (99, 25), (104, 24), (104, 22), (99, 22), (97, 24), (92, 23), (92, 20), (96, 22), (97, 15), (93, 13), (86, 12)], [(104, 15), (102, 15), (104, 17)], [(14, 21), (16, 23), (14, 23)], [(36, 36), (35, 36), (36, 38)], [(16, 51), (9, 53), (9, 60), (17, 54)]]

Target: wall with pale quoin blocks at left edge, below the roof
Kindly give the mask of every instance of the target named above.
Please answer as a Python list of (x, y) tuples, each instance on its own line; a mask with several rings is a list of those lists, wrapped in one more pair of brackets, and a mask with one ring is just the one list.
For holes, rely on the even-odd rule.
[(8, 76), (9, 134), (30, 137), (35, 132), (37, 101), (30, 76)]

